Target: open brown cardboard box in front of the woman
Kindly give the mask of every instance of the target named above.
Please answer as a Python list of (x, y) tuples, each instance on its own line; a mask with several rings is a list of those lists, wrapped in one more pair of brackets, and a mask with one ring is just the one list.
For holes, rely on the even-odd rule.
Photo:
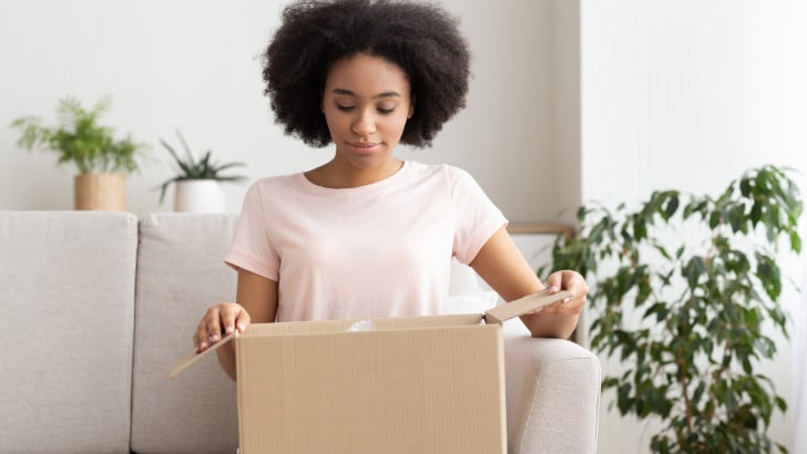
[(242, 454), (505, 453), (501, 322), (569, 296), (484, 314), (252, 324), (236, 342)]

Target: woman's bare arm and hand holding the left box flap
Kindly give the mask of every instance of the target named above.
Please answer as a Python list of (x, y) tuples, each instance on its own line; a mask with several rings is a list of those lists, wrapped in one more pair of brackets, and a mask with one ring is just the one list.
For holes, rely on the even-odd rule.
[[(277, 282), (249, 271), (238, 270), (235, 300), (211, 306), (194, 334), (196, 352), (206, 350), (234, 330), (244, 332), (249, 323), (270, 323), (277, 313)], [(235, 345), (216, 350), (222, 369), (236, 380)]]

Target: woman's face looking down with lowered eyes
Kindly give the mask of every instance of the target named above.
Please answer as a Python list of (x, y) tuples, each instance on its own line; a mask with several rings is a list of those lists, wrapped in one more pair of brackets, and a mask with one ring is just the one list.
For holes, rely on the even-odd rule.
[(323, 113), (336, 144), (335, 161), (369, 169), (389, 165), (412, 113), (404, 70), (379, 56), (336, 61), (325, 81)]

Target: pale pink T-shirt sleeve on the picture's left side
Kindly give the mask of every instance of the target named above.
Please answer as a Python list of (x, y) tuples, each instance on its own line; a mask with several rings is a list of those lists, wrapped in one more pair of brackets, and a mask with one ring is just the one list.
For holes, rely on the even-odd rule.
[(278, 280), (279, 259), (269, 240), (261, 180), (253, 184), (244, 196), (233, 244), (224, 262), (236, 270), (244, 269)]

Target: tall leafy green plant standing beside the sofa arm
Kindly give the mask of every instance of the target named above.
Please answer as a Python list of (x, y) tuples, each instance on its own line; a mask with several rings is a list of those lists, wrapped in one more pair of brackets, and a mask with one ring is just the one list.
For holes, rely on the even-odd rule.
[[(787, 404), (765, 375), (787, 338), (778, 249), (800, 251), (803, 202), (786, 171), (752, 169), (717, 198), (655, 192), (637, 209), (578, 211), (551, 268), (591, 288), (592, 348), (621, 361), (606, 376), (620, 412), (657, 419), (658, 453), (758, 453)], [(542, 271), (539, 271), (542, 272)]]

